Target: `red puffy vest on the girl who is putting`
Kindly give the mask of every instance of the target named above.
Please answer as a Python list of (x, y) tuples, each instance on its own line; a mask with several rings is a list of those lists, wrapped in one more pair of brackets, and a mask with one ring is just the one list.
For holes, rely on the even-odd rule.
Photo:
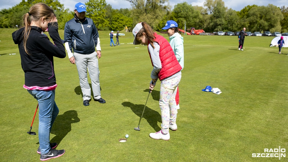
[[(176, 56), (173, 52), (173, 49), (170, 46), (167, 39), (165, 39), (161, 35), (157, 35), (156, 33), (154, 33), (154, 36), (155, 36), (155, 42), (157, 42), (160, 45), (159, 57), (160, 57), (161, 64), (162, 64), (162, 68), (160, 72), (158, 73), (158, 78), (160, 80), (163, 80), (179, 72), (182, 69), (182, 67), (177, 61)], [(149, 55), (151, 59), (150, 52), (149, 52)], [(151, 59), (151, 63), (152, 63), (152, 66), (154, 66), (152, 59)]]

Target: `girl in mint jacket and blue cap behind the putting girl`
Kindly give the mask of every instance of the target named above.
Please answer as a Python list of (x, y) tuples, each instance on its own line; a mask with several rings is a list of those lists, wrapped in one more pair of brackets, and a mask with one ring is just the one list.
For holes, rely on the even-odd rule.
[[(181, 65), (182, 69), (184, 68), (184, 46), (183, 46), (183, 37), (179, 34), (178, 31), (178, 24), (177, 22), (173, 20), (167, 21), (164, 30), (167, 30), (167, 34), (170, 39), (170, 45), (175, 53), (175, 56)], [(181, 69), (181, 70), (182, 70)], [(179, 86), (177, 88), (177, 93), (176, 93), (176, 105), (177, 109), (180, 109), (179, 107)]]

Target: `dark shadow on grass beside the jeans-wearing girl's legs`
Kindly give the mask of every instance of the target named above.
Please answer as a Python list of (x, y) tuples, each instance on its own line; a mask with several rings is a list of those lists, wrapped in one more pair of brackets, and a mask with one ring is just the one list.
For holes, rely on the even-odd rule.
[(58, 115), (53, 123), (51, 133), (56, 136), (52, 138), (51, 142), (59, 143), (71, 131), (71, 124), (80, 122), (77, 111), (69, 110), (62, 115)]

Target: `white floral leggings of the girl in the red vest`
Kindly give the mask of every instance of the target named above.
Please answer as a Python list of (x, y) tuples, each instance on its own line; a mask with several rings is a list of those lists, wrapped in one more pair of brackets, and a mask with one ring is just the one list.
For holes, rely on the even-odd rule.
[(177, 108), (175, 96), (181, 74), (174, 78), (161, 81), (159, 106), (161, 109), (161, 130), (164, 134), (169, 133), (169, 122), (176, 123)]

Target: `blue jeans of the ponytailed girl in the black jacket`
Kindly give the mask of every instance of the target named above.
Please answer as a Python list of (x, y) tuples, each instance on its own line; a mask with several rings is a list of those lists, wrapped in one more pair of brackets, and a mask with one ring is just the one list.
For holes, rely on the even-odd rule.
[(39, 129), (38, 138), (41, 154), (47, 154), (50, 151), (50, 132), (59, 109), (54, 101), (55, 90), (27, 90), (39, 104)]

